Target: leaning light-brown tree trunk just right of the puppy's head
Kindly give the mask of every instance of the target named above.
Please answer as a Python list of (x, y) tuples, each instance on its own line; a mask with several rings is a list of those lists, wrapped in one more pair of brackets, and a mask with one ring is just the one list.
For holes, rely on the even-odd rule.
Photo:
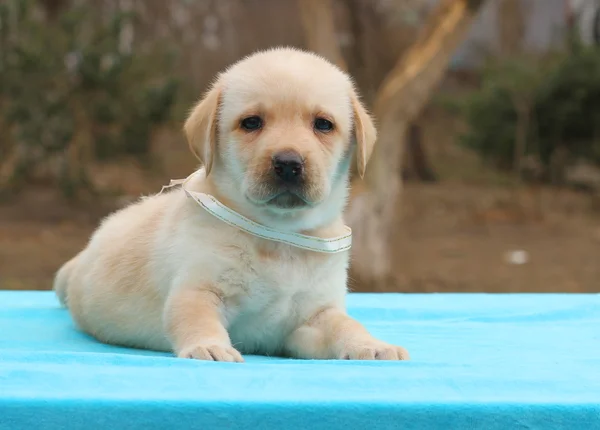
[(442, 0), (378, 91), (374, 114), (380, 138), (365, 176), (368, 192), (354, 198), (347, 214), (355, 244), (351, 276), (369, 290), (384, 290), (394, 281), (392, 245), (400, 216), (398, 172), (406, 133), (442, 79), (482, 3)]

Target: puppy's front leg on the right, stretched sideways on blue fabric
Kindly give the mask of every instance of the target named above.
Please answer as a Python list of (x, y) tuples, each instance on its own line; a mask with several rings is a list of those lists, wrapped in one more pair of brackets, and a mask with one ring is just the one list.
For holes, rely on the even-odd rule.
[(297, 328), (286, 342), (298, 358), (350, 360), (408, 360), (401, 346), (375, 339), (343, 310), (325, 308)]

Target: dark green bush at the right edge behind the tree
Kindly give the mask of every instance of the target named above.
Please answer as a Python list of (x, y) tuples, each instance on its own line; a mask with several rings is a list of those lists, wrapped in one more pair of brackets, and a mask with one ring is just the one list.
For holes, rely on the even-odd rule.
[(600, 164), (597, 48), (497, 61), (484, 70), (481, 87), (455, 104), (469, 126), (461, 142), (497, 167), (515, 167), (520, 115), (528, 116), (523, 155), (545, 171), (563, 150)]

